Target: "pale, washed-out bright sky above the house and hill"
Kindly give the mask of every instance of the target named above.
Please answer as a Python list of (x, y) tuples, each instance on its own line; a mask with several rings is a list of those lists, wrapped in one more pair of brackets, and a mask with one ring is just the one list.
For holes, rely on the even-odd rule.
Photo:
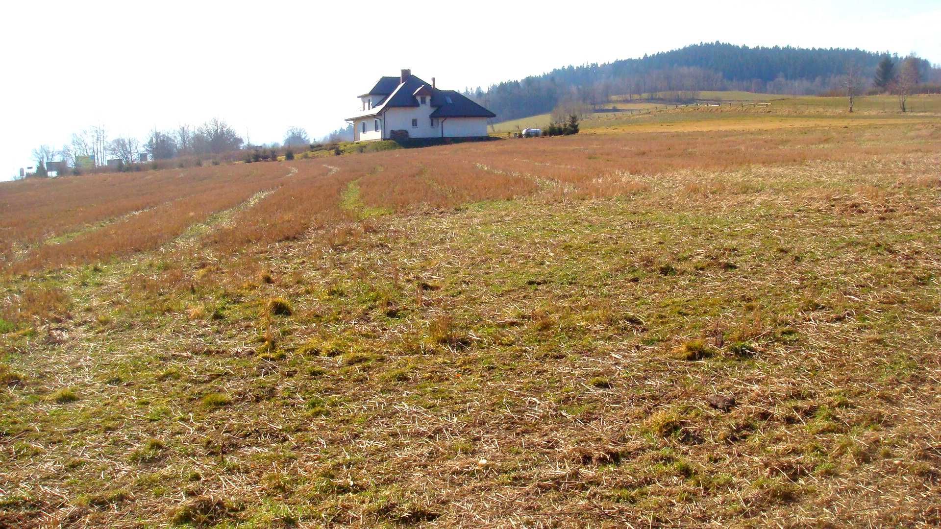
[(0, 7), (0, 180), (39, 145), (104, 125), (228, 121), (252, 143), (345, 126), (401, 69), (483, 87), (569, 64), (720, 40), (916, 53), (941, 63), (941, 1), (6, 2)]

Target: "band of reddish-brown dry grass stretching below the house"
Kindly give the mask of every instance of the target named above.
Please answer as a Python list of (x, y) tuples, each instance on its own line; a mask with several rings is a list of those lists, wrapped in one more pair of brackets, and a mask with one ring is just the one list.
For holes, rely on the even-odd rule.
[[(337, 231), (338, 224), (415, 208), (448, 209), (533, 195), (552, 200), (630, 196), (647, 191), (651, 177), (683, 170), (845, 161), (939, 149), (941, 131), (927, 124), (767, 134), (575, 136), (344, 156), (331, 159), (335, 166), (298, 160), (291, 170), (285, 164), (252, 164), (193, 169), (185, 176), (136, 173), (113, 185), (110, 179), (116, 175), (13, 183), (0, 188), (0, 197), (10, 233), (7, 270), (21, 273), (156, 248), (210, 215), (276, 187), (226, 226), (208, 232), (207, 243), (242, 251), (249, 244), (321, 231), (339, 247), (356, 234)], [(685, 190), (709, 196), (723, 191), (719, 185), (725, 184), (696, 178)], [(97, 205), (80, 207), (90, 200), (89, 188), (98, 192)], [(129, 201), (127, 196), (135, 191), (139, 196)], [(123, 216), (66, 233), (61, 240), (37, 243), (38, 236), (62, 235), (118, 215)], [(20, 252), (14, 251), (18, 245)]]

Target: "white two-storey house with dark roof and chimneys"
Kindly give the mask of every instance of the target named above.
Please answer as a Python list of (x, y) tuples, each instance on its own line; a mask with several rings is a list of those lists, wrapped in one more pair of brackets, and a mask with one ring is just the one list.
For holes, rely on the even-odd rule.
[(356, 141), (408, 137), (486, 136), (486, 120), (496, 116), (455, 90), (425, 83), (410, 70), (399, 77), (382, 77), (359, 96), (360, 109), (346, 121), (353, 124)]

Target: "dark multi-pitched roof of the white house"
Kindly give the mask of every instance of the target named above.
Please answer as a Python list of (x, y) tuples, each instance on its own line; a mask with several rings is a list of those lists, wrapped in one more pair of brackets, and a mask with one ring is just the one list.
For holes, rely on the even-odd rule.
[(374, 116), (387, 108), (395, 106), (418, 106), (418, 98), (414, 94), (423, 85), (432, 92), (429, 103), (438, 107), (431, 113), (432, 118), (495, 118), (497, 116), (455, 90), (431, 88), (430, 83), (425, 83), (415, 75), (409, 75), (405, 83), (402, 83), (401, 80), (401, 77), (391, 76), (380, 78), (375, 87), (363, 96), (386, 95), (387, 97), (368, 111), (350, 119)]

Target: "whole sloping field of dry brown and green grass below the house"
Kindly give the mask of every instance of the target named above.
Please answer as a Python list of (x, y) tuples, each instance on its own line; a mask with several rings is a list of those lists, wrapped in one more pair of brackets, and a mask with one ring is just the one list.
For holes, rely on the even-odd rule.
[(941, 524), (941, 119), (711, 108), (0, 184), (0, 526)]

